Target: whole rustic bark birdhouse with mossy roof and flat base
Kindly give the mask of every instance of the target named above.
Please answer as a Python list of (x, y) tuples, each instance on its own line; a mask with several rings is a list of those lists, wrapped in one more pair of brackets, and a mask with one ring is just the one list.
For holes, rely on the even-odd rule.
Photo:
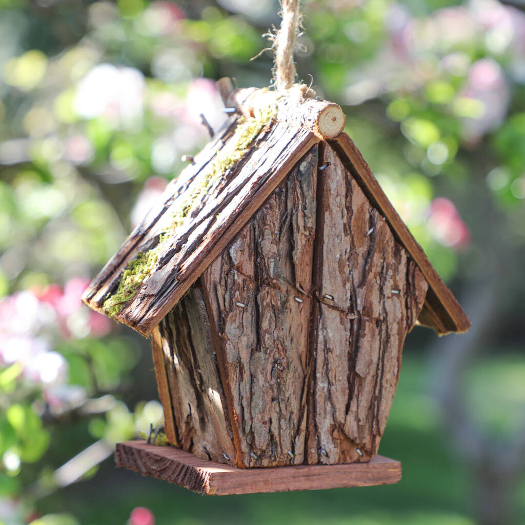
[(83, 296), (151, 335), (176, 447), (124, 444), (119, 461), (207, 493), (396, 481), (377, 451), (405, 336), (469, 320), (337, 104), (219, 82), (228, 121)]

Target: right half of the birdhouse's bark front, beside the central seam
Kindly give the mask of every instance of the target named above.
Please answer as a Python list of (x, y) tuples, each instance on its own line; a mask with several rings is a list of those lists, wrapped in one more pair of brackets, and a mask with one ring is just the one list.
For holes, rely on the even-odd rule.
[(367, 461), (377, 453), (427, 282), (328, 145), (322, 162), (307, 461)]

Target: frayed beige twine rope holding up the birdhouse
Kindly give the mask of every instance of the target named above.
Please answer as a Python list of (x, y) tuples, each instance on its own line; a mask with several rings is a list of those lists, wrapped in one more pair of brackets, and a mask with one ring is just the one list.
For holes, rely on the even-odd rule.
[(274, 82), (279, 91), (290, 89), (296, 78), (293, 51), (301, 27), (300, 0), (280, 0), (281, 27), (274, 36), (275, 67)]

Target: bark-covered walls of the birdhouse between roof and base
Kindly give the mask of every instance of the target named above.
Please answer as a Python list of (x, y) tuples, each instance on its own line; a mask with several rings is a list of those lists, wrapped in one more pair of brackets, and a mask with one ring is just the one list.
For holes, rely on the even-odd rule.
[(369, 460), (426, 289), (314, 146), (154, 331), (168, 439), (241, 467)]

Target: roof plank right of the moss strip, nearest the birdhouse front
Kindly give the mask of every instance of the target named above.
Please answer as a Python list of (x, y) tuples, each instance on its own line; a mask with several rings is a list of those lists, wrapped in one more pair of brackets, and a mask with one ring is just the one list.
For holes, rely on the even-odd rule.
[(165, 264), (144, 279), (117, 319), (148, 336), (317, 142), (308, 130), (275, 123), (262, 142), (264, 148), (254, 144), (235, 178), (208, 202), (206, 213), (203, 209), (198, 214), (198, 224), (192, 219), (196, 226), (185, 243), (180, 246), (174, 237), (163, 250), (170, 257), (159, 254)]

